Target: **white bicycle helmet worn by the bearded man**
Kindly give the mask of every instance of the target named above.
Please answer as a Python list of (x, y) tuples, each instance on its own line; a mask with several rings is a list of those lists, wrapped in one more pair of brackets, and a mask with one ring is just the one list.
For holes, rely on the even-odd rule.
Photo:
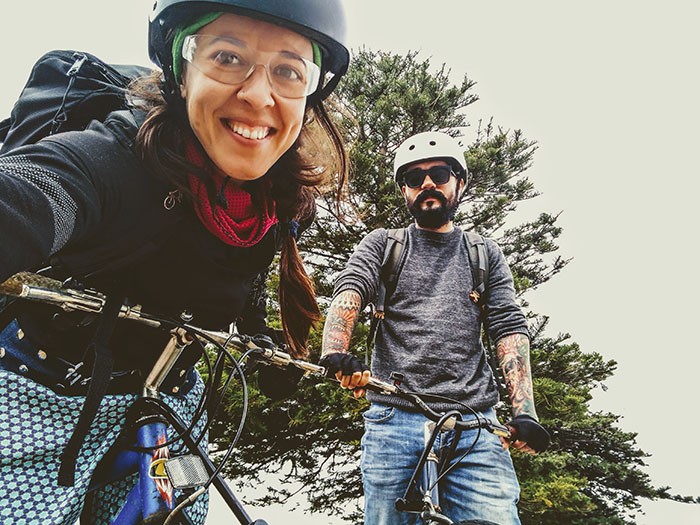
[(467, 182), (469, 171), (462, 147), (457, 139), (439, 131), (418, 133), (401, 143), (394, 156), (394, 180), (401, 185), (406, 166), (432, 159), (449, 163), (457, 178)]

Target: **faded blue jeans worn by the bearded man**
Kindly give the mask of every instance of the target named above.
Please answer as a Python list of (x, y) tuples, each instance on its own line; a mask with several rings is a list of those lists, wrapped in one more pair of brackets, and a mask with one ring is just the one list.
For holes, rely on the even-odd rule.
[[(496, 420), (493, 409), (484, 417)], [(464, 419), (472, 419), (465, 414)], [(409, 525), (418, 515), (398, 512), (394, 506), (404, 495), (425, 447), (425, 416), (372, 403), (364, 414), (362, 481), (366, 525)], [(459, 458), (474, 444), (477, 430), (465, 431), (457, 445)], [(454, 431), (441, 432), (434, 447), (454, 438)], [(518, 525), (520, 487), (510, 454), (501, 441), (482, 430), (473, 450), (439, 483), (442, 513), (454, 522), (487, 520), (499, 525)]]

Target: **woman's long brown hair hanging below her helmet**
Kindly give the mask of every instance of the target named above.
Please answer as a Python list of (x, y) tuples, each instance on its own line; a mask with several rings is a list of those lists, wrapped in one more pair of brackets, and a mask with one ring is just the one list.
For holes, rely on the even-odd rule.
[[(179, 190), (190, 202), (192, 194), (187, 175), (197, 174), (213, 196), (213, 182), (203, 176), (201, 167), (188, 162), (184, 154), (187, 141), (197, 144), (185, 116), (184, 104), (169, 104), (160, 92), (160, 72), (136, 80), (130, 89), (133, 104), (147, 112), (146, 120), (136, 136), (136, 149), (157, 176)], [(307, 152), (321, 137), (330, 147), (330, 155), (322, 156), (326, 165), (312, 162), (313, 151)], [(328, 146), (320, 146), (326, 151)], [(337, 177), (336, 201), (339, 202), (347, 179), (348, 159), (340, 132), (323, 102), (307, 107), (301, 133), (292, 147), (277, 161), (263, 179), (272, 184), (272, 197), (280, 226), (292, 221), (308, 223), (315, 214), (314, 191), (329, 178)], [(261, 181), (248, 183), (252, 186)], [(294, 231), (294, 227), (291, 228)], [(282, 235), (279, 285), (282, 329), (290, 353), (306, 357), (306, 341), (311, 327), (321, 319), (313, 281), (304, 269), (294, 235)]]

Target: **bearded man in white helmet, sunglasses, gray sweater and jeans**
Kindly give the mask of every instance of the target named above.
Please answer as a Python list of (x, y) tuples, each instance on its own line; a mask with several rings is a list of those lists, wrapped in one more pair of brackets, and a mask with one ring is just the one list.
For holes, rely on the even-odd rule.
[[(508, 448), (535, 453), (546, 448), (549, 436), (537, 421), (528, 325), (512, 274), (501, 249), (485, 238), (486, 308), (470, 299), (474, 283), (465, 233), (453, 223), (468, 180), (456, 139), (438, 132), (410, 137), (397, 150), (394, 179), (415, 220), (405, 229), (401, 270), (384, 304), (371, 374), (388, 380), (398, 372), (403, 388), (429, 394), (424, 401), (432, 409), (496, 422), (499, 390), (482, 345), (483, 323), (496, 342), (513, 409), (509, 425), (518, 437), (507, 442), (486, 431), (441, 432), (435, 446), (457, 441), (459, 459), (439, 482), (440, 503), (454, 522), (519, 524), (520, 489)], [(360, 312), (377, 296), (387, 239), (387, 230), (380, 228), (358, 244), (336, 280), (324, 326), (321, 364), (356, 397), (365, 394), (370, 371), (348, 353), (349, 343)], [(366, 393), (365, 523), (416, 523), (419, 518), (397, 511), (395, 501), (404, 495), (423, 451), (426, 418), (398, 396)]]

